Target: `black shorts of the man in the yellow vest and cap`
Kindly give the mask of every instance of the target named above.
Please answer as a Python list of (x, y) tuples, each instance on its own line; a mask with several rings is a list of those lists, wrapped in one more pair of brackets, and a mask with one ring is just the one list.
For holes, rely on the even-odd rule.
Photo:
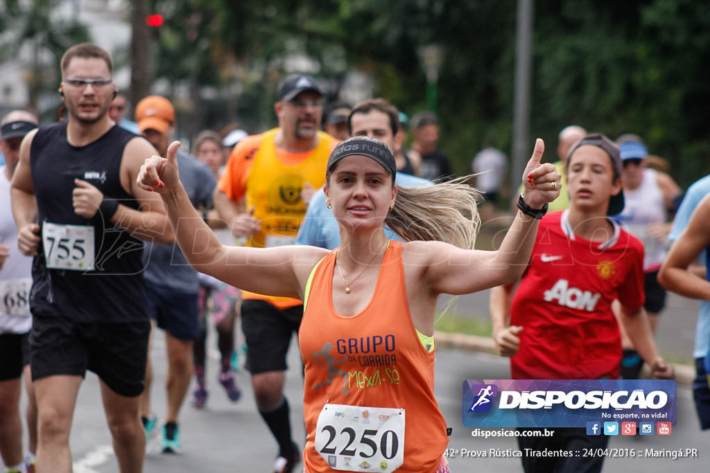
[(251, 374), (285, 371), (293, 333), (303, 318), (303, 306), (281, 310), (261, 299), (241, 302), (241, 330), (246, 340), (246, 367)]

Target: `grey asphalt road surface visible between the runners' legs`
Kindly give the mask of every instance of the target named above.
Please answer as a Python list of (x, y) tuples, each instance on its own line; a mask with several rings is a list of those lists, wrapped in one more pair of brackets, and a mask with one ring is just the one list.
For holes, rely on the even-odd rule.
[[(161, 389), (165, 370), (165, 350), (160, 334), (155, 340), (152, 357), (155, 363), (153, 404), (158, 413), (164, 412), (165, 394)], [(210, 345), (214, 346), (214, 344)], [(214, 352), (212, 354), (214, 357)], [(305, 433), (302, 423), (302, 379), (298, 369), (297, 351), (290, 351), (287, 393), (291, 405), (291, 418), (295, 439), (302, 442)], [(196, 411), (186, 404), (182, 410), (182, 455), (165, 455), (155, 450), (148, 453), (145, 472), (271, 472), (276, 453), (275, 442), (256, 412), (249, 374), (242, 369), (237, 374), (244, 395), (231, 404), (221, 386), (217, 384), (216, 359), (209, 365), (209, 400), (206, 408)], [(520, 462), (513, 457), (491, 457), (494, 451), (515, 451), (513, 438), (471, 437), (471, 428), (461, 423), (461, 383), (469, 378), (507, 379), (508, 363), (493, 355), (441, 349), (437, 354), (436, 395), (444, 416), (454, 429), (449, 447), (459, 453), (449, 458), (453, 472), (521, 472)], [(710, 452), (710, 433), (701, 433), (695, 418), (690, 391), (679, 386), (678, 423), (670, 437), (612, 438), (609, 447), (620, 449), (646, 449), (665, 452), (673, 449), (696, 448), (699, 457), (672, 460), (661, 458), (608, 458), (605, 472), (624, 473), (687, 473), (707, 471)], [(104, 420), (97, 377), (87, 374), (82, 385), (75, 413), (71, 437), (74, 471), (77, 473), (116, 473), (118, 468), (111, 450), (111, 440)], [(474, 458), (462, 455), (466, 449)]]

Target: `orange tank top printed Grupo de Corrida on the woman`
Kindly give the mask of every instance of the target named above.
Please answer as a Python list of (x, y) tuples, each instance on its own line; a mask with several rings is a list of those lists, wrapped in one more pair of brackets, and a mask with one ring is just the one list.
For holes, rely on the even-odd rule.
[[(449, 441), (447, 425), (434, 397), (435, 352), (422, 346), (410, 316), (403, 245), (390, 241), (372, 300), (354, 316), (341, 316), (333, 306), (337, 250), (311, 274), (298, 332), (305, 365), (307, 473), (334, 471), (315, 447), (326, 403), (404, 409), (404, 463), (397, 472), (435, 472), (439, 466)], [(355, 455), (355, 460), (363, 459)]]

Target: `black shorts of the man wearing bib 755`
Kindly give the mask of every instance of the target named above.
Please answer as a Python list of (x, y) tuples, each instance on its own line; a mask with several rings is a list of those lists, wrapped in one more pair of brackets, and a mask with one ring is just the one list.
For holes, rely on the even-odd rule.
[(76, 322), (33, 313), (30, 332), (32, 380), (54, 375), (96, 373), (116, 394), (143, 392), (151, 323)]

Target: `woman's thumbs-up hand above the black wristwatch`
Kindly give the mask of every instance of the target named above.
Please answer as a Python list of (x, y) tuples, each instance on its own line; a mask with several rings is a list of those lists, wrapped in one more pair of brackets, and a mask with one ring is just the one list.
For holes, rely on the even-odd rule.
[(542, 208), (559, 196), (559, 187), (562, 177), (557, 172), (555, 165), (546, 162), (540, 164), (542, 153), (545, 152), (545, 143), (537, 138), (535, 150), (523, 172), (523, 199), (532, 208)]

